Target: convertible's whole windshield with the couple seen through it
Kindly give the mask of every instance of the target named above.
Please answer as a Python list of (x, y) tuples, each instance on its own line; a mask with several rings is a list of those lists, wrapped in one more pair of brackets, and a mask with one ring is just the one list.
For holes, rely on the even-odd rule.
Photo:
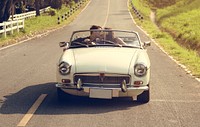
[(73, 32), (71, 48), (113, 46), (141, 48), (138, 34), (122, 30), (81, 30)]

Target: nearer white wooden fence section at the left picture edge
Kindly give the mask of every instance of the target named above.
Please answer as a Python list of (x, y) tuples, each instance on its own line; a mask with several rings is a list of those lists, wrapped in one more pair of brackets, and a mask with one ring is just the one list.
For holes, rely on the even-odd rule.
[(7, 32), (11, 32), (13, 34), (14, 30), (17, 30), (19, 32), (19, 29), (24, 29), (24, 19), (22, 20), (15, 20), (15, 21), (8, 21), (0, 23), (0, 34), (4, 34), (4, 37), (6, 38)]

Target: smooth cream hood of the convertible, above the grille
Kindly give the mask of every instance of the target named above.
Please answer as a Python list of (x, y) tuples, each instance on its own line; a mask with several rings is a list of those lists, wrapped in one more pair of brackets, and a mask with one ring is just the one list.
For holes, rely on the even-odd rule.
[(118, 47), (74, 49), (75, 72), (128, 74), (137, 51), (133, 48)]

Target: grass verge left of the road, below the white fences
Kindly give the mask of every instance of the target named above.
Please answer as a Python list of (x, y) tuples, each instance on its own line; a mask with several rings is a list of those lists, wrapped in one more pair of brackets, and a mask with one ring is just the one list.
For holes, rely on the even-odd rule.
[[(3, 37), (3, 35), (0, 35), (0, 47), (32, 38), (35, 35), (42, 34), (53, 29), (58, 29), (69, 24), (75, 19), (75, 17), (81, 12), (88, 2), (89, 0), (87, 0), (83, 6), (70, 15), (67, 20), (62, 20), (60, 24), (58, 24), (58, 16), (64, 15), (66, 12), (68, 12), (70, 10), (68, 6), (62, 6), (62, 9), (60, 10), (51, 9), (55, 12), (54, 16), (51, 16), (49, 15), (49, 12), (46, 12), (41, 14), (41, 16), (26, 19), (25, 28), (20, 30), (19, 33), (16, 31), (14, 31), (13, 35), (8, 33), (6, 38)], [(75, 4), (73, 6), (75, 6)]]

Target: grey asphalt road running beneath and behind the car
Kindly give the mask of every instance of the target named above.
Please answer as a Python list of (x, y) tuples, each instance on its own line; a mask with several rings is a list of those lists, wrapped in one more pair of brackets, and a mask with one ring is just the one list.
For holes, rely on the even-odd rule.
[(140, 104), (129, 98), (98, 100), (69, 96), (59, 104), (54, 86), (56, 63), (62, 53), (58, 42), (67, 41), (72, 31), (88, 29), (93, 24), (135, 30), (142, 41), (149, 40), (133, 23), (127, 0), (91, 0), (70, 25), (0, 50), (0, 127), (18, 126), (42, 94), (47, 96), (38, 108), (33, 106), (36, 112), (26, 127), (200, 126), (200, 83), (154, 43), (148, 48), (149, 103)]

